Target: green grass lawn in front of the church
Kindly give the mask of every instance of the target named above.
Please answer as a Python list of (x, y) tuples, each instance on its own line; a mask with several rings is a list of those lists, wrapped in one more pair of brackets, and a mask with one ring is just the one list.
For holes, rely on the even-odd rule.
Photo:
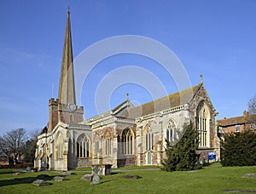
[[(12, 169), (13, 170), (13, 169)], [(113, 174), (102, 176), (101, 184), (90, 185), (89, 180), (80, 180), (85, 171), (74, 170), (76, 175), (67, 175), (68, 180), (51, 185), (32, 185), (39, 174), (48, 174), (50, 179), (59, 175), (55, 171), (14, 175), (12, 170), (0, 170), (0, 193), (222, 193), (222, 191), (256, 191), (256, 178), (242, 178), (244, 174), (256, 174), (253, 167), (207, 167), (198, 171), (168, 173), (159, 169), (145, 168), (113, 169)], [(84, 169), (88, 170), (88, 169)], [(118, 171), (117, 171), (118, 170)], [(88, 171), (86, 171), (88, 173)], [(126, 180), (126, 174), (136, 174), (142, 179)], [(15, 180), (19, 179), (19, 180)]]

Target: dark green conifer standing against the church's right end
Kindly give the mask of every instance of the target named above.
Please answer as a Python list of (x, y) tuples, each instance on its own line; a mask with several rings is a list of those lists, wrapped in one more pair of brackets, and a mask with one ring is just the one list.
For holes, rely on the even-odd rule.
[(166, 140), (166, 159), (162, 162), (164, 170), (172, 172), (193, 170), (199, 168), (199, 155), (196, 150), (199, 145), (198, 133), (192, 125), (184, 126), (185, 132), (175, 145)]

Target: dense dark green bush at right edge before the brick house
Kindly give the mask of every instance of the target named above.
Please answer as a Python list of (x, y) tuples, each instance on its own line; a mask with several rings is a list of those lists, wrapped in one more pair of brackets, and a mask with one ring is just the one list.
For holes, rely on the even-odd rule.
[(224, 137), (222, 165), (252, 166), (256, 164), (256, 134), (252, 131), (226, 134)]

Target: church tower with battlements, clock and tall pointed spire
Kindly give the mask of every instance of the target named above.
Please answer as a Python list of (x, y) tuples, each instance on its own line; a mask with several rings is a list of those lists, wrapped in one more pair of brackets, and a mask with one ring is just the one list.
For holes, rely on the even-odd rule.
[(61, 77), (58, 99), (49, 100), (48, 131), (61, 123), (81, 123), (84, 120), (84, 107), (77, 106), (73, 73), (73, 50), (70, 25), (70, 11), (67, 11), (67, 26), (61, 62)]

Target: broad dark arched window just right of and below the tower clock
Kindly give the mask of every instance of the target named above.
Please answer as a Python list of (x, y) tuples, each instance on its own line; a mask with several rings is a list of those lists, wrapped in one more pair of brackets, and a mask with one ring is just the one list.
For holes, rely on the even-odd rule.
[(77, 140), (77, 157), (90, 157), (90, 140), (84, 134)]

